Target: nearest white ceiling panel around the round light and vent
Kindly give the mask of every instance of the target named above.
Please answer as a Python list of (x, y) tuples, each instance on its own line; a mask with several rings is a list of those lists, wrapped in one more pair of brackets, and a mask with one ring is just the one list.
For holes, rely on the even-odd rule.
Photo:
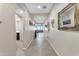
[[(53, 3), (26, 3), (25, 5), (31, 14), (44, 14), (50, 12)], [(38, 8), (38, 6), (41, 6), (41, 8)], [(46, 6), (46, 8), (43, 8), (43, 6)]]

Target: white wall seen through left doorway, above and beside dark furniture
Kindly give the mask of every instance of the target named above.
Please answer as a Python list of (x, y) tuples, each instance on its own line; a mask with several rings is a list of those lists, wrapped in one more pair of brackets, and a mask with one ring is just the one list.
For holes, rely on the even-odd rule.
[(20, 40), (23, 40), (23, 20), (17, 14), (15, 15), (16, 33), (20, 33)]

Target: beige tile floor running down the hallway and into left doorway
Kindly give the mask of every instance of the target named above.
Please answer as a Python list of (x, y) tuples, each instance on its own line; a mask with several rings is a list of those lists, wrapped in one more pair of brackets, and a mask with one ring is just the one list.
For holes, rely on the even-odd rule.
[(55, 51), (52, 49), (44, 34), (38, 34), (37, 39), (34, 39), (31, 45), (26, 49), (22, 49), (22, 42), (17, 41), (17, 56), (57, 56)]

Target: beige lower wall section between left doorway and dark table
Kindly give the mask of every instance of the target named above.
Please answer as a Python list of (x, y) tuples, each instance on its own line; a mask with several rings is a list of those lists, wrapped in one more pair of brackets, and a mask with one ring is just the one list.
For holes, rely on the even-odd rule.
[(25, 31), (23, 39), (23, 45), (24, 45), (23, 47), (28, 48), (32, 40), (34, 40), (34, 31)]

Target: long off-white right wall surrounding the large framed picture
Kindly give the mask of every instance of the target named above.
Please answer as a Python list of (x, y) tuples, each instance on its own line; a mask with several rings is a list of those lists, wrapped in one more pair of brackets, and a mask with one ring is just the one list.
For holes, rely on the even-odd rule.
[[(79, 33), (58, 30), (58, 12), (64, 8), (66, 3), (56, 4), (50, 14), (50, 20), (54, 19), (54, 28), (50, 27), (49, 41), (59, 55), (79, 55)], [(50, 24), (51, 25), (51, 24)]]

